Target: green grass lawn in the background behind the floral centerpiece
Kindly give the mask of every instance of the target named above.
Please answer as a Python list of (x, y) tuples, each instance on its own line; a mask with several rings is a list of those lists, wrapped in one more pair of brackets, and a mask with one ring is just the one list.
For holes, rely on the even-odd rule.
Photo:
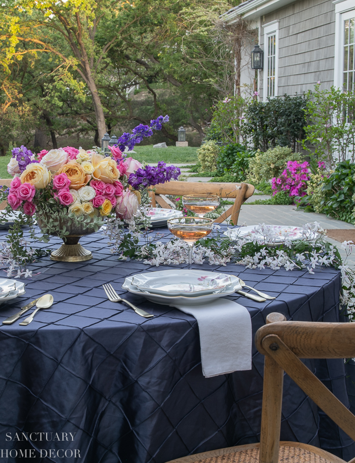
[[(182, 164), (187, 162), (197, 162), (198, 148), (188, 146), (186, 148), (177, 146), (168, 146), (167, 148), (153, 148), (153, 145), (135, 146), (132, 154), (134, 159), (138, 161), (146, 161), (148, 163), (157, 163), (164, 161), (168, 163)], [(0, 157), (0, 178), (11, 178), (7, 171), (7, 165), (10, 160), (9, 156)]]

